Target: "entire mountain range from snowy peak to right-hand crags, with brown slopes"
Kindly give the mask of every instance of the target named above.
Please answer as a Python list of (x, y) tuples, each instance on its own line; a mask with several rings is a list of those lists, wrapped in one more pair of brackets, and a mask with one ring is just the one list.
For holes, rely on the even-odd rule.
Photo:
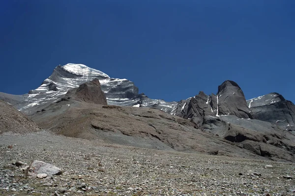
[[(295, 162), (295, 109), (277, 93), (246, 100), (227, 80), (217, 94), (166, 102), (127, 79), (81, 64), (55, 68), (29, 94), (0, 93), (41, 128), (85, 139), (186, 152)], [(140, 107), (140, 108), (137, 108)]]

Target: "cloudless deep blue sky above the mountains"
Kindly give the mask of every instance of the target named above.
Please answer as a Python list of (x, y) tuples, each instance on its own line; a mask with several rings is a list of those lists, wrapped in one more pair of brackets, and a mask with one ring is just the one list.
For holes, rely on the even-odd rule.
[(294, 0), (1, 0), (0, 92), (81, 63), (167, 101), (217, 93), (295, 102)]

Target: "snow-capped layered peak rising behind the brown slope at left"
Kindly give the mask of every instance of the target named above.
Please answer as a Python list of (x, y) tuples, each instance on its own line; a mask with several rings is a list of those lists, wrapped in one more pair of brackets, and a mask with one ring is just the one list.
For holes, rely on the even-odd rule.
[(97, 78), (109, 105), (152, 107), (170, 113), (177, 102), (166, 102), (151, 99), (144, 94), (138, 94), (138, 88), (127, 79), (111, 78), (105, 73), (82, 64), (66, 64), (57, 66), (53, 73), (45, 79), (41, 86), (30, 90), (25, 95), (9, 95), (0, 93), (0, 99), (13, 104), (18, 110), (30, 114), (60, 98), (73, 88)]

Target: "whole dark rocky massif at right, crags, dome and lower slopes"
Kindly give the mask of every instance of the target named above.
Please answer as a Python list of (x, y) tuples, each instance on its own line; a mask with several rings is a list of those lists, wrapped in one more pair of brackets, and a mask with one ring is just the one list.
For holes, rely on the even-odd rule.
[(180, 101), (176, 108), (174, 114), (190, 119), (195, 128), (260, 156), (295, 160), (295, 135), (289, 132), (294, 127), (294, 104), (279, 94), (246, 101), (235, 82), (225, 81), (217, 95), (200, 92)]

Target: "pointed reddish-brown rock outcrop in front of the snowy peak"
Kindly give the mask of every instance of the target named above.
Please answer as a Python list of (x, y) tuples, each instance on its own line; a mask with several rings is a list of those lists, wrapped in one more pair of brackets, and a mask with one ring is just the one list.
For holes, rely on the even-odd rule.
[(81, 84), (78, 88), (69, 90), (64, 98), (84, 101), (87, 103), (107, 105), (106, 96), (101, 90), (100, 83), (97, 78), (91, 80), (90, 82)]

